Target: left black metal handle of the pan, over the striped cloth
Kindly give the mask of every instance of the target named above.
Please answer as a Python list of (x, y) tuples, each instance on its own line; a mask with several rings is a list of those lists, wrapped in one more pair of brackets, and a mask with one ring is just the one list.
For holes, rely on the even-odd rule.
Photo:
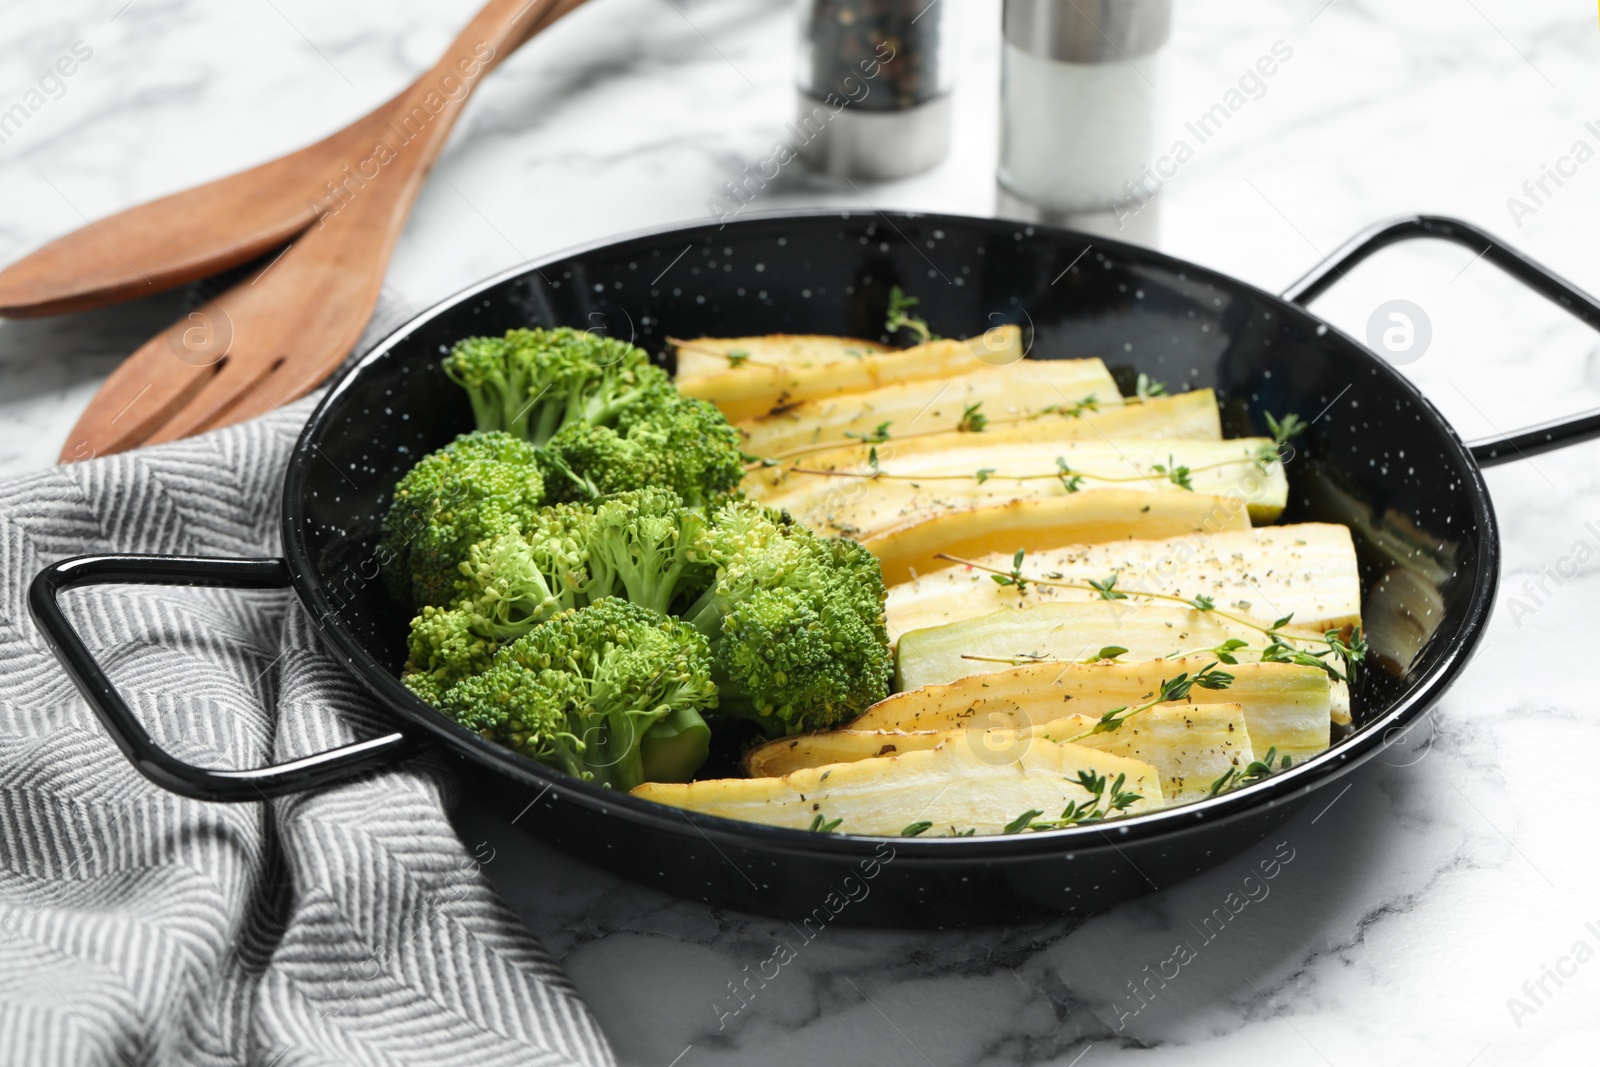
[(413, 737), (390, 733), (262, 768), (234, 771), (184, 763), (157, 745), (139, 725), (61, 611), (61, 590), (104, 584), (283, 589), (290, 584), (288, 565), (272, 557), (226, 560), (192, 555), (80, 555), (51, 563), (34, 577), (27, 606), (51, 651), (122, 753), (157, 785), (194, 800), (266, 800), (342, 782), (397, 763), (416, 750)]

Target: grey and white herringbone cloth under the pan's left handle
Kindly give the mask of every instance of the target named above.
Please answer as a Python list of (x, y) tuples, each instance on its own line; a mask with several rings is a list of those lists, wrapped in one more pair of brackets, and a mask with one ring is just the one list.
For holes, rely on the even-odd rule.
[[(24, 606), (83, 552), (270, 555), (310, 402), (0, 485), (0, 1064), (610, 1064), (445, 817), (437, 765), (272, 805), (162, 792)], [(69, 616), (150, 733), (251, 766), (382, 715), (285, 592), (101, 587)]]

